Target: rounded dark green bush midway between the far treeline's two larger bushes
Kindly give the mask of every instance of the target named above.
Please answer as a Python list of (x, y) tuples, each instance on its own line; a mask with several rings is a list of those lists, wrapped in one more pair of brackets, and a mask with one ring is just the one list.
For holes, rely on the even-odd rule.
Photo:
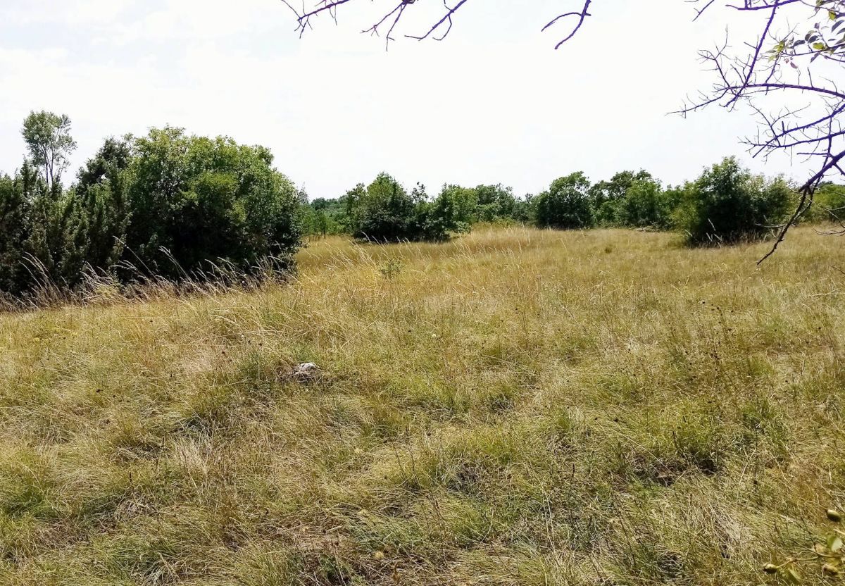
[(590, 182), (581, 172), (555, 179), (548, 191), (537, 195), (537, 226), (564, 230), (593, 226), (589, 189)]

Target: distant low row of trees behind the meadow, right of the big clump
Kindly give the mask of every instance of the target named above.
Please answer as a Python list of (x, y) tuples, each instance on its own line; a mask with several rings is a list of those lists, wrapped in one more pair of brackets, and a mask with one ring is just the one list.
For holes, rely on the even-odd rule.
[[(833, 191), (832, 193), (840, 193)], [(845, 189), (842, 201), (845, 205)], [(646, 171), (623, 171), (590, 183), (584, 173), (555, 179), (537, 195), (518, 198), (497, 185), (447, 184), (433, 200), (421, 185), (410, 193), (382, 173), (337, 200), (303, 209), (309, 234), (349, 233), (377, 242), (443, 240), (478, 222), (525, 223), (555, 229), (630, 227), (679, 230), (690, 244), (730, 244), (762, 238), (788, 216), (794, 194), (782, 178), (754, 175), (734, 158), (704, 170), (695, 181), (663, 187)], [(818, 214), (817, 219), (825, 219)]]

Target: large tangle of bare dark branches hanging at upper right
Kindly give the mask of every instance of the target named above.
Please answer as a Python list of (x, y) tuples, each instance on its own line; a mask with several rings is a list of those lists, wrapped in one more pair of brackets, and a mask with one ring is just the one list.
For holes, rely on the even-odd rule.
[[(704, 3), (696, 19), (715, 2)], [(760, 34), (748, 45), (750, 54), (730, 52), (728, 41), (714, 51), (703, 51), (701, 59), (716, 75), (711, 89), (689, 101), (679, 113), (718, 104), (734, 109), (740, 103), (755, 113), (759, 131), (743, 142), (752, 156), (767, 159), (776, 152), (804, 156), (814, 165), (811, 177), (796, 189), (799, 202), (788, 221), (778, 226), (777, 238), (760, 262), (769, 258), (786, 238), (788, 230), (813, 205), (820, 183), (843, 177), (840, 161), (845, 156), (845, 129), (840, 115), (845, 112), (845, 91), (830, 76), (814, 76), (814, 70), (842, 74), (845, 63), (845, 1), (843, 0), (744, 0), (728, 4), (739, 12), (766, 11)], [(789, 26), (788, 22), (799, 23)], [(785, 27), (783, 30), (778, 30)], [(803, 27), (805, 32), (802, 34)], [(766, 112), (773, 99), (785, 105), (778, 112)], [(801, 107), (790, 101), (804, 100)], [(759, 102), (759, 103), (758, 103)], [(801, 151), (796, 152), (800, 147)]]

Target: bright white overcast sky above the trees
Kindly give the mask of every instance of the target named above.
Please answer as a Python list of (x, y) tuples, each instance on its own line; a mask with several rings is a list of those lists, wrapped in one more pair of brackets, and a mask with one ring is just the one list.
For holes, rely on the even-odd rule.
[[(382, 170), (429, 192), (505, 183), (517, 194), (579, 170), (596, 181), (642, 167), (679, 183), (727, 155), (793, 173), (745, 155), (747, 112), (667, 115), (707, 87), (696, 51), (728, 18), (743, 27), (735, 13), (693, 23), (683, 0), (597, 0), (554, 51), (568, 25), (540, 28), (574, 0), (470, 0), (445, 41), (385, 52), (358, 33), (374, 13), (357, 3), (300, 40), (280, 0), (0, 0), (0, 171), (23, 159), (26, 114), (48, 109), (73, 121), (74, 173), (106, 136), (172, 124), (269, 146), (312, 198)], [(442, 6), (412, 7), (402, 32), (427, 29), (414, 16), (427, 4)]]

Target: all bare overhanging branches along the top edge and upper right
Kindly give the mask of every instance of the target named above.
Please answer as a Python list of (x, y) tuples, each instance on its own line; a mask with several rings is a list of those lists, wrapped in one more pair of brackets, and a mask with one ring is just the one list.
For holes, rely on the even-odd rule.
[[(281, 0), (297, 17), (297, 31), (302, 36), (311, 27), (311, 19), (328, 14), (337, 20), (337, 11), (363, 0), (317, 0), (311, 8), (295, 8), (294, 0)], [(313, 0), (311, 0), (313, 1)], [(427, 0), (384, 0), (388, 4), (383, 16), (363, 32), (379, 35), (386, 28), (385, 44), (407, 10)], [(455, 14), (469, 0), (442, 0), (443, 14), (419, 35), (407, 38), (442, 41), (452, 30)], [(728, 0), (729, 2), (730, 0)], [(450, 4), (450, 2), (452, 2)], [(559, 48), (582, 30), (591, 16), (592, 0), (567, 0), (573, 10), (562, 12), (542, 27), (542, 31), (558, 30), (570, 24), (555, 45)], [(845, 153), (845, 128), (840, 121), (845, 112), (845, 90), (840, 90), (837, 76), (845, 64), (845, 0), (743, 0), (720, 4), (717, 0), (685, 0), (695, 8), (694, 20), (725, 8), (733, 12), (762, 13), (760, 32), (753, 42), (744, 42), (748, 52), (733, 51), (726, 33), (721, 46), (700, 52), (701, 60), (714, 74), (711, 88), (684, 103), (679, 112), (684, 116), (711, 106), (735, 110), (749, 107), (758, 119), (759, 130), (743, 142), (752, 156), (764, 160), (776, 152), (803, 156), (812, 165), (811, 177), (796, 189), (799, 204), (788, 222), (779, 227), (777, 239), (765, 258), (786, 238), (791, 227), (813, 205), (815, 190), (831, 177), (842, 178), (842, 153)], [(728, 22), (730, 20), (728, 19)], [(791, 23), (791, 24), (790, 24)], [(815, 74), (815, 75), (814, 75)], [(804, 101), (793, 105), (797, 99)], [(777, 112), (768, 112), (771, 101), (780, 101)], [(843, 228), (845, 230), (845, 228)]]

